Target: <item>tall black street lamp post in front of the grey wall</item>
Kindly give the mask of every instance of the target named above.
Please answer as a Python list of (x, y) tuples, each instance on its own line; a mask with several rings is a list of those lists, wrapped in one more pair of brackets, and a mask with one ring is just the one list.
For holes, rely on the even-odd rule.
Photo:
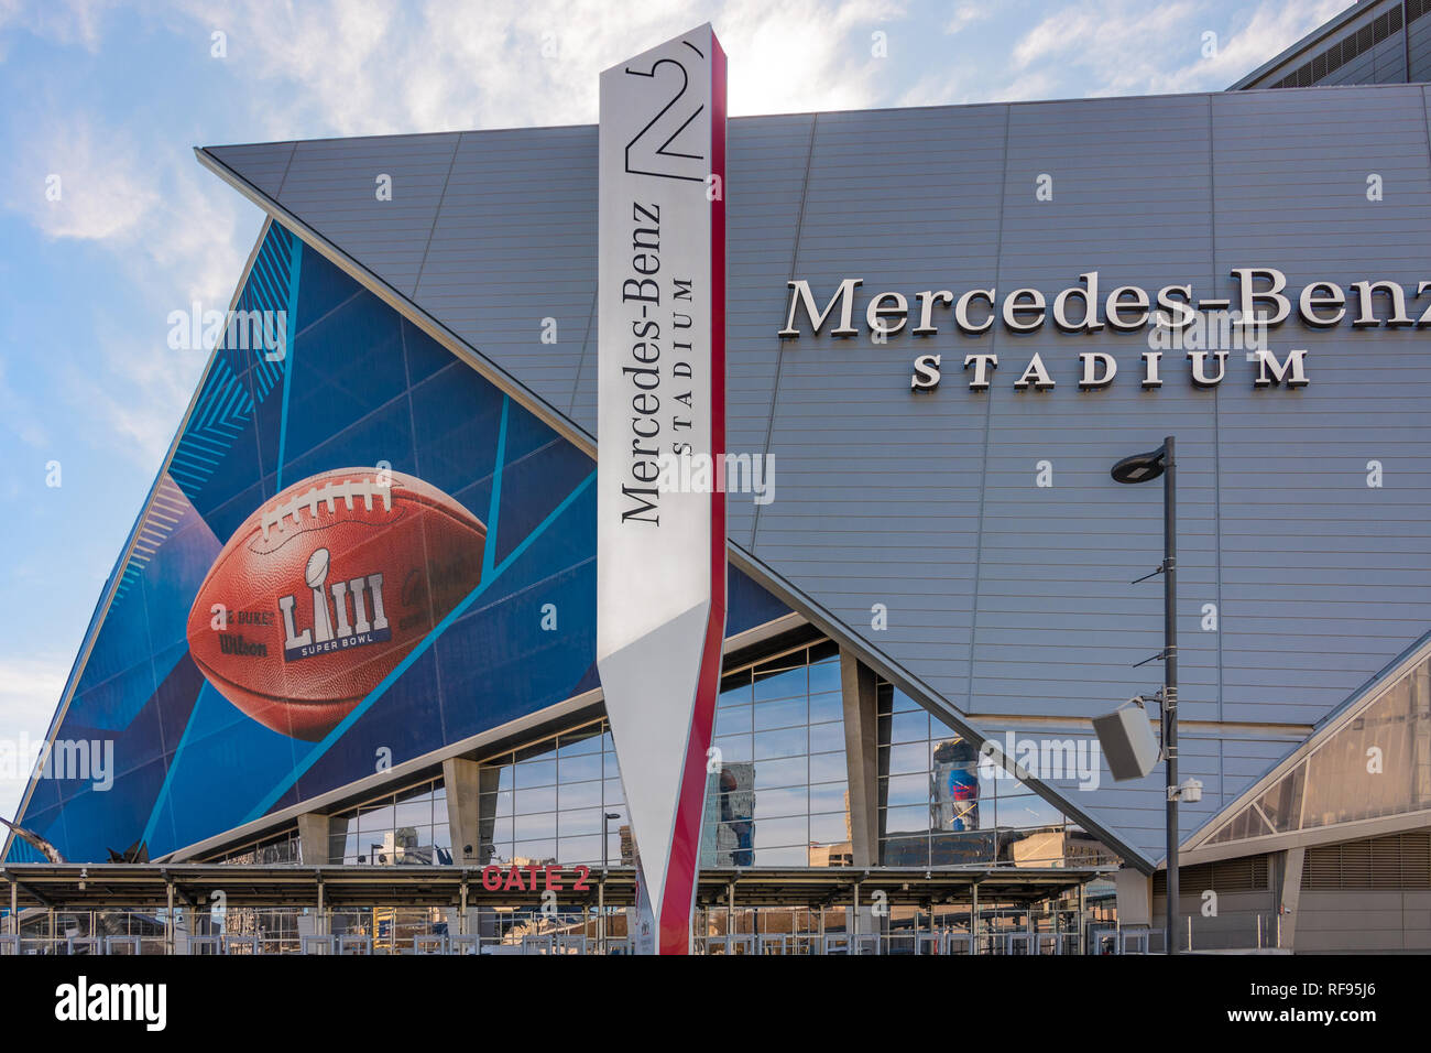
[(1149, 483), (1163, 477), (1163, 761), (1168, 784), (1168, 911), (1166, 948), (1179, 953), (1178, 933), (1178, 458), (1173, 437), (1162, 448), (1125, 457), (1113, 466), (1118, 483)]

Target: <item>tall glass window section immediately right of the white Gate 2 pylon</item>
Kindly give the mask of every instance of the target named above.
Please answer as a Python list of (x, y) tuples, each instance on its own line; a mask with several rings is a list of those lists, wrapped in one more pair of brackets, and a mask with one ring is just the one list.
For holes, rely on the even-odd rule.
[[(703, 867), (850, 862), (840, 653), (829, 640), (727, 673)], [(713, 765), (714, 766), (714, 765)]]

